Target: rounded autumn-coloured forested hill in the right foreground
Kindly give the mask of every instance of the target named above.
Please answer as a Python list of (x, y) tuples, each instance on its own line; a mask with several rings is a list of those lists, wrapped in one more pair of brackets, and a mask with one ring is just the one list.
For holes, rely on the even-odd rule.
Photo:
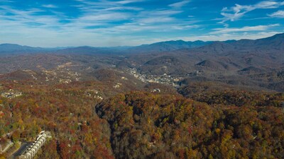
[(283, 158), (278, 107), (207, 105), (133, 92), (97, 106), (116, 158)]

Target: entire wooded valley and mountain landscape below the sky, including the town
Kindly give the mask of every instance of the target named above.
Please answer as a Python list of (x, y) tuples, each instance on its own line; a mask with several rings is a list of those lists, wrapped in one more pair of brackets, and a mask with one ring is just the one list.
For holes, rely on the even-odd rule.
[(0, 45), (0, 158), (44, 130), (35, 158), (282, 158), (283, 35)]

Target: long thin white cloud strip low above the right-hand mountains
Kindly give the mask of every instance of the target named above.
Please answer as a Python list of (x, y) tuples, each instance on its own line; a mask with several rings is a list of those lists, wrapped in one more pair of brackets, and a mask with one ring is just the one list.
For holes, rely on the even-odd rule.
[(226, 33), (238, 33), (238, 32), (253, 32), (253, 31), (266, 31), (273, 27), (278, 27), (280, 24), (272, 25), (256, 25), (256, 26), (245, 26), (243, 28), (215, 28), (210, 34), (226, 34)]

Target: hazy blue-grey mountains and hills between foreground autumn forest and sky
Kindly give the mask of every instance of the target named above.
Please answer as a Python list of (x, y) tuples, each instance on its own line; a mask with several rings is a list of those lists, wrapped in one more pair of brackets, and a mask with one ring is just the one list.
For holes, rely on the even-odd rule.
[(73, 71), (86, 76), (100, 69), (136, 69), (141, 76), (166, 74), (185, 81), (202, 78), (260, 89), (284, 88), (284, 33), (259, 40), (178, 40), (137, 47), (40, 48), (3, 44), (0, 52), (5, 55), (0, 57), (0, 73), (55, 69), (71, 62)]

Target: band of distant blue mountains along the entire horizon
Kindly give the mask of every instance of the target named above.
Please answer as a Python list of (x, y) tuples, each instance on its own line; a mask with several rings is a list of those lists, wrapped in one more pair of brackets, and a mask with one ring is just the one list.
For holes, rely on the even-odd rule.
[[(266, 37), (258, 40), (227, 40), (224, 42), (200, 40), (185, 42), (183, 40), (156, 42), (150, 45), (140, 45), (136, 47), (29, 47), (15, 44), (1, 44), (0, 53), (83, 53), (83, 54), (117, 54), (117, 53), (157, 53), (171, 52), (178, 49), (195, 49), (198, 52), (221, 53), (236, 49), (284, 49), (284, 33)], [(198, 49), (197, 49), (198, 48)]]

